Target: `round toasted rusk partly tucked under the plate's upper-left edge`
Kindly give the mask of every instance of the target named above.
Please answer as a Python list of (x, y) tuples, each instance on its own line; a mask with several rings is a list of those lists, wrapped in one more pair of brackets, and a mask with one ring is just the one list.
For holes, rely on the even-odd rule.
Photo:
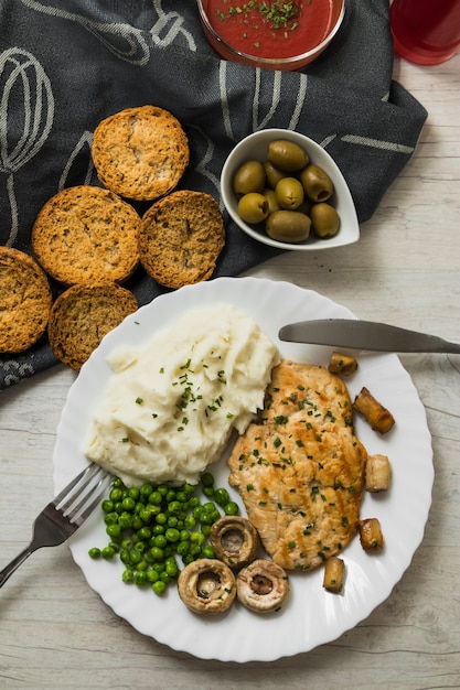
[(103, 337), (137, 309), (132, 292), (117, 283), (73, 285), (52, 306), (47, 326), (51, 348), (78, 371)]

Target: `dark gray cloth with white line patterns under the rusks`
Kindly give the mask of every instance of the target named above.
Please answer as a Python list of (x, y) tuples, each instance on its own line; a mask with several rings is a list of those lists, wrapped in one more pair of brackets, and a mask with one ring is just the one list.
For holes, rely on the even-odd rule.
[[(194, 0), (1, 0), (0, 244), (30, 252), (34, 218), (51, 196), (99, 184), (96, 125), (146, 104), (167, 108), (186, 130), (191, 164), (181, 187), (220, 200), (235, 142), (263, 128), (295, 129), (335, 159), (364, 222), (410, 160), (427, 117), (392, 69), (388, 0), (346, 0), (334, 41), (299, 73), (221, 61)], [(225, 222), (216, 276), (276, 255)], [(164, 292), (142, 271), (127, 287), (140, 305)], [(0, 355), (0, 389), (55, 363), (45, 337), (20, 356)]]

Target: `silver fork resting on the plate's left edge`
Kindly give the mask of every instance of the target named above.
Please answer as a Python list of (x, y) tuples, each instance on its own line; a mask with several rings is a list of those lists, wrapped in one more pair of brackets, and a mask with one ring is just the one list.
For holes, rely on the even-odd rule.
[(93, 513), (109, 482), (110, 475), (94, 463), (72, 479), (35, 518), (30, 545), (0, 571), (0, 587), (31, 553), (66, 541)]

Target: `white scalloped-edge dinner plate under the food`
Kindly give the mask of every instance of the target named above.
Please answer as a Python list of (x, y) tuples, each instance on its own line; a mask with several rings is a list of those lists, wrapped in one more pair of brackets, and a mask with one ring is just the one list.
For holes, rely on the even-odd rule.
[[(328, 364), (330, 347), (281, 343), (278, 330), (293, 321), (353, 317), (347, 309), (315, 292), (254, 278), (220, 278), (157, 298), (106, 336), (69, 389), (54, 449), (56, 490), (86, 464), (82, 444), (92, 409), (110, 376), (107, 354), (119, 344), (147, 342), (186, 310), (216, 303), (233, 304), (253, 316), (277, 343), (282, 356), (322, 365)], [(393, 466), (391, 490), (386, 495), (366, 494), (361, 513), (363, 518), (381, 520), (384, 551), (370, 556), (362, 550), (359, 538), (352, 541), (343, 552), (343, 594), (323, 590), (322, 569), (295, 573), (289, 602), (278, 614), (260, 616), (236, 603), (227, 614), (214, 618), (191, 613), (179, 600), (175, 587), (159, 597), (149, 590), (124, 584), (120, 563), (90, 560), (88, 549), (107, 543), (105, 526), (96, 510), (69, 546), (89, 585), (116, 614), (159, 643), (200, 658), (269, 661), (336, 639), (391, 594), (424, 536), (434, 481), (431, 440), (424, 407), (396, 355), (357, 356), (359, 370), (346, 379), (352, 397), (365, 385), (396, 418), (395, 428), (385, 436), (356, 419), (357, 435), (367, 451), (387, 454)], [(213, 467), (213, 474), (217, 485), (227, 485), (224, 461)]]

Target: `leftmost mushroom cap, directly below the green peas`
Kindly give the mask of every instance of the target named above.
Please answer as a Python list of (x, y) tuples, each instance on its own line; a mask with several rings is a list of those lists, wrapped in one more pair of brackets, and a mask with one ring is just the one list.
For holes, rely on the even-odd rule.
[(222, 561), (202, 558), (192, 561), (178, 579), (179, 596), (195, 613), (222, 613), (236, 596), (235, 575)]

